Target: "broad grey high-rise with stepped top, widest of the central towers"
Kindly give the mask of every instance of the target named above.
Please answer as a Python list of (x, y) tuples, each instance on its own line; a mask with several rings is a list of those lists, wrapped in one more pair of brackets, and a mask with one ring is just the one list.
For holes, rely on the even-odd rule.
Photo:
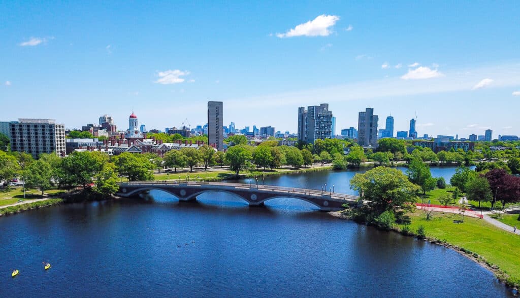
[(316, 139), (327, 139), (332, 135), (332, 111), (329, 104), (298, 107), (298, 141), (314, 143)]

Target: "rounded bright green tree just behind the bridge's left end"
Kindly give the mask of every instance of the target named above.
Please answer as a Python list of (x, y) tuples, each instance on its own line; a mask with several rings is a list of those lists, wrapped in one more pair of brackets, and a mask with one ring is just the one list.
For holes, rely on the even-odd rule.
[(146, 156), (123, 152), (114, 157), (114, 164), (119, 174), (127, 177), (128, 181), (153, 180), (153, 173), (149, 171), (153, 165)]

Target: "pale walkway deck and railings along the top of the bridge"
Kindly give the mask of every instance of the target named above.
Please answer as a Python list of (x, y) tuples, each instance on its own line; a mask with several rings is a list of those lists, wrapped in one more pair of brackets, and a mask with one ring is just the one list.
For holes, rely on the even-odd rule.
[(317, 191), (315, 189), (306, 189), (306, 188), (296, 188), (296, 187), (283, 187), (283, 186), (274, 186), (274, 185), (256, 185), (256, 184), (246, 184), (246, 183), (226, 183), (226, 182), (160, 182), (160, 181), (138, 181), (138, 182), (126, 182), (121, 183), (121, 187), (153, 187), (153, 186), (166, 186), (166, 187), (201, 187), (201, 189), (212, 188), (218, 191), (218, 189), (222, 190), (242, 190), (242, 191), (254, 191), (254, 192), (263, 192), (263, 193), (271, 193), (271, 194), (279, 194), (279, 195), (296, 195), (296, 196), (308, 196), (308, 197), (316, 197), (327, 200), (342, 200), (347, 202), (357, 202), (359, 200), (358, 196), (347, 195), (341, 193), (333, 193), (326, 191)]

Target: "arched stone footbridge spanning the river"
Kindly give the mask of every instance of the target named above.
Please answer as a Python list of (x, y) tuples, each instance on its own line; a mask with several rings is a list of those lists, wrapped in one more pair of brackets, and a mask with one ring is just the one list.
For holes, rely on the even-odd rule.
[(359, 201), (358, 196), (314, 189), (223, 182), (128, 182), (120, 184), (116, 195), (130, 197), (152, 189), (170, 193), (179, 201), (196, 200), (197, 196), (206, 192), (224, 192), (240, 197), (250, 206), (263, 206), (265, 201), (274, 198), (294, 198), (314, 204), (322, 211), (342, 210), (343, 204), (357, 205)]

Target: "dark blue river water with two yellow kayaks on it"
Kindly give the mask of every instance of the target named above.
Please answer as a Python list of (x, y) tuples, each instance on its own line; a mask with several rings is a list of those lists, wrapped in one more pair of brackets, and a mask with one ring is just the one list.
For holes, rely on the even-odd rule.
[[(351, 174), (266, 182), (347, 192)], [(266, 206), (220, 193), (179, 204), (152, 192), (0, 218), (0, 296), (511, 295), (443, 247), (335, 219), (304, 201)], [(52, 264), (47, 272), (42, 261)], [(11, 278), (12, 268), (20, 275)]]

